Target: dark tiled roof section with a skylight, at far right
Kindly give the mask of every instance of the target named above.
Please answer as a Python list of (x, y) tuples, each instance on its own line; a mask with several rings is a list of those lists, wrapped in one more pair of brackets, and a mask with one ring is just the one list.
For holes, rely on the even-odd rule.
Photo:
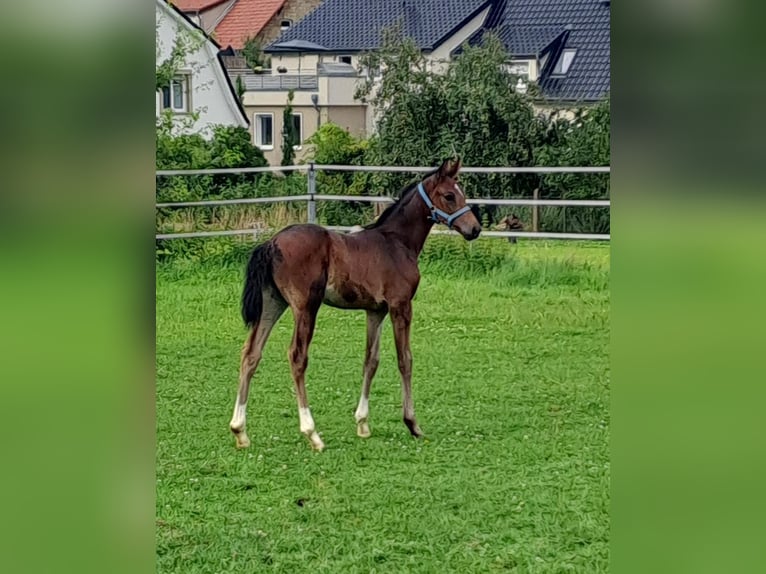
[[(478, 43), (485, 30), (469, 42)], [(610, 2), (507, 0), (504, 17), (493, 31), (512, 55), (539, 56), (550, 51), (539, 78), (546, 99), (596, 101), (609, 93)], [(567, 74), (552, 76), (567, 48), (577, 50)]]

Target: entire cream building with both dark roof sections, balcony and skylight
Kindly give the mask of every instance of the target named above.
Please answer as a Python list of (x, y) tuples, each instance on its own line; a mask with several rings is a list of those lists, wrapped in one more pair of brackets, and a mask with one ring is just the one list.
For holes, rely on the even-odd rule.
[[(608, 95), (610, 2), (605, 0), (324, 0), (265, 48), (268, 73), (229, 69), (245, 85), (253, 141), (270, 163), (281, 159), (282, 111), (294, 90), (293, 122), (304, 142), (331, 121), (355, 136), (374, 131), (375, 113), (354, 99), (359, 57), (399, 23), (432, 70), (489, 31), (511, 58), (508, 69), (540, 88), (538, 109), (566, 110)], [(375, 73), (371, 71), (371, 73)], [(564, 111), (563, 113), (568, 113)], [(298, 146), (296, 157), (305, 150)]]

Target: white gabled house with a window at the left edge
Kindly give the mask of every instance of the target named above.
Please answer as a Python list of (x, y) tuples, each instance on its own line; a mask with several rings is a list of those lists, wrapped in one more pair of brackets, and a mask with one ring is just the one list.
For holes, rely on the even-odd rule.
[(169, 111), (178, 131), (203, 137), (212, 136), (215, 125), (247, 128), (248, 116), (224, 69), (221, 47), (166, 0), (155, 4), (157, 65), (168, 59), (179, 38), (188, 46), (173, 80), (157, 91), (157, 117)]

